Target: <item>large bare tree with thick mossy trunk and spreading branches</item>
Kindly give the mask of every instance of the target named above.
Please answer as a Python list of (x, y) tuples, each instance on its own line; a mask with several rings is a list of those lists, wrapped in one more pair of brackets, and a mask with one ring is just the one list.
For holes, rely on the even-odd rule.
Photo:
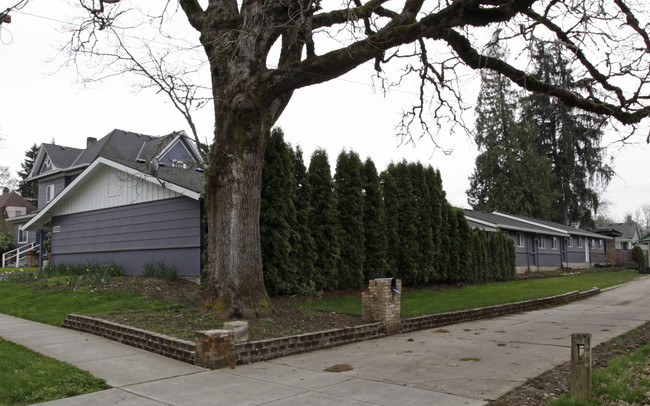
[[(78, 1), (90, 18), (77, 31), (77, 46), (72, 47), (77, 51), (100, 49), (95, 34), (118, 26), (129, 7), (139, 7), (136, 1), (129, 5), (129, 0)], [(158, 17), (180, 5), (200, 34), (209, 64), (206, 74), (211, 81), (215, 126), (214, 138), (205, 149), (209, 260), (203, 306), (227, 316), (272, 311), (260, 259), (262, 158), (270, 129), (295, 90), (330, 81), (366, 62), (374, 63), (378, 72), (396, 62), (404, 75), (415, 76), (421, 90), (419, 101), (405, 110), (407, 134), (410, 123), (428, 133), (435, 126), (425, 117), (434, 121), (457, 118), (462, 94), (458, 69), (491, 69), (528, 91), (547, 93), (569, 106), (634, 126), (650, 113), (645, 1), (162, 2), (165, 8)], [(162, 24), (162, 20), (154, 16), (150, 21)], [(488, 32), (495, 29), (501, 30), (499, 37), (513, 50), (523, 50), (533, 40), (564, 47), (573, 56), (579, 81), (571, 89), (577, 90), (535, 79), (527, 73), (526, 61), (483, 55)], [(125, 32), (123, 27), (115, 30), (118, 37)], [(319, 53), (321, 41), (327, 50)], [(271, 65), (267, 60), (278, 48), (277, 64)], [(182, 72), (163, 75), (167, 82), (160, 81), (158, 65), (138, 63), (125, 47), (121, 49), (119, 58), (130, 61), (133, 71), (148, 72), (145, 76), (151, 76), (154, 86), (181, 100), (183, 111), (183, 101), (191, 101), (192, 94), (184, 87), (188, 83), (180, 80)], [(179, 97), (174, 94), (178, 91), (186, 93)], [(324, 109), (316, 103), (315, 109)]]

